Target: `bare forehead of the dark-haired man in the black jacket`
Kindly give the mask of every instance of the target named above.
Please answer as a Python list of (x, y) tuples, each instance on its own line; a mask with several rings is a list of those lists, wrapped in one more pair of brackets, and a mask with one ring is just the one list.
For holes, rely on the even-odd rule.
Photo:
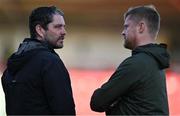
[(51, 23), (65, 25), (64, 17), (61, 16), (60, 14), (54, 14)]

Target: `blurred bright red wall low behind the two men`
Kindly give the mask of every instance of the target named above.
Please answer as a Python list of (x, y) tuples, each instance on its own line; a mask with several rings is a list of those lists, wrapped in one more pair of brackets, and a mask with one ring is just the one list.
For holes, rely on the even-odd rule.
[[(70, 70), (71, 84), (78, 115), (104, 115), (91, 111), (89, 102), (95, 89), (106, 82), (114, 70)], [(167, 72), (170, 115), (180, 114), (180, 74)]]

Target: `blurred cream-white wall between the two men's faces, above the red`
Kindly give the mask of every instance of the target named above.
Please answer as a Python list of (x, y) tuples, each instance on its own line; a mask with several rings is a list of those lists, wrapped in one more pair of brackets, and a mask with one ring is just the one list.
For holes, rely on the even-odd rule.
[(115, 68), (130, 55), (120, 33), (93, 29), (69, 30), (57, 52), (68, 67), (93, 69)]

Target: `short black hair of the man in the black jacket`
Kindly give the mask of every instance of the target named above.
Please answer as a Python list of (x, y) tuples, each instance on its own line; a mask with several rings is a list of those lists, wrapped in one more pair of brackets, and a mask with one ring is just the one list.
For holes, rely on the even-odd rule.
[(32, 11), (29, 16), (29, 30), (31, 38), (36, 38), (36, 25), (39, 24), (47, 30), (47, 25), (52, 22), (54, 14), (64, 16), (63, 11), (57, 9), (55, 6), (38, 7)]

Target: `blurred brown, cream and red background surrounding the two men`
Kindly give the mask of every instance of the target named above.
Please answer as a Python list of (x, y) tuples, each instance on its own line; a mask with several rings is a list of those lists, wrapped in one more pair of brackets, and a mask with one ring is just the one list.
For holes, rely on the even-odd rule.
[[(123, 13), (153, 4), (161, 15), (158, 43), (168, 44), (171, 67), (166, 71), (171, 115), (180, 115), (180, 0), (0, 0), (0, 74), (7, 58), (29, 37), (32, 9), (55, 5), (65, 13), (64, 48), (56, 50), (67, 66), (78, 115), (104, 115), (90, 110), (93, 91), (106, 82), (131, 51), (123, 48)], [(0, 115), (5, 115), (0, 89)]]

